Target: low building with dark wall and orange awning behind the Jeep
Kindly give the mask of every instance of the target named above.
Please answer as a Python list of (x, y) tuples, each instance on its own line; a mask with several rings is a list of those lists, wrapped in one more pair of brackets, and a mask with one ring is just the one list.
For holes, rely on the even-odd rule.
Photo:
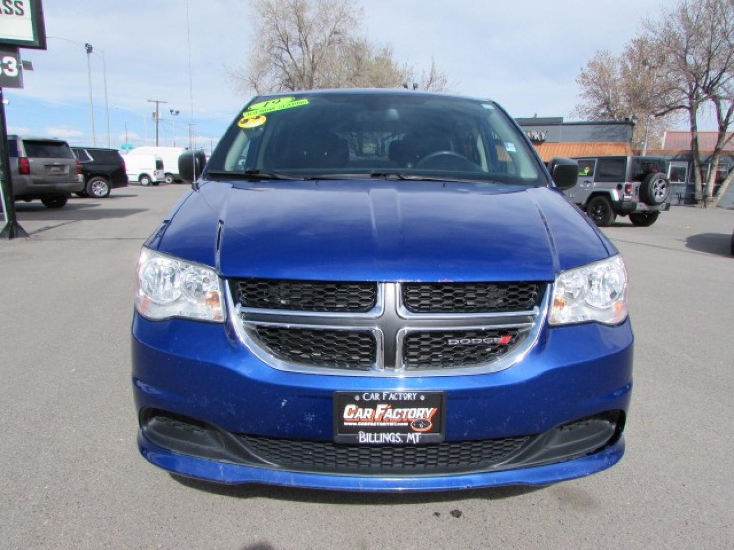
[[(587, 156), (627, 156), (648, 155), (668, 161), (668, 177), (675, 194), (673, 202), (680, 198), (686, 202), (698, 197), (694, 186), (693, 153), (691, 152), (691, 133), (689, 131), (666, 131), (662, 143), (651, 144), (646, 151), (634, 150), (632, 132), (634, 122), (564, 122), (563, 117), (518, 118), (517, 124), (523, 128), (533, 142), (543, 161), (553, 157), (578, 158)], [(716, 144), (715, 131), (699, 132), (699, 158), (703, 173), (708, 177), (711, 169), (711, 155)], [(724, 147), (716, 171), (716, 186), (734, 167), (734, 139)], [(700, 198), (700, 197), (698, 197)], [(725, 208), (734, 208), (734, 186), (722, 199)]]

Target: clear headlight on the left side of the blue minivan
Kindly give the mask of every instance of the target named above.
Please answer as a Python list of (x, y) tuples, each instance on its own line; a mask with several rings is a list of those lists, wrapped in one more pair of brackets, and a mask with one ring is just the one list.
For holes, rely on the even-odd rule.
[(153, 320), (224, 320), (222, 289), (213, 269), (146, 248), (138, 262), (135, 308)]

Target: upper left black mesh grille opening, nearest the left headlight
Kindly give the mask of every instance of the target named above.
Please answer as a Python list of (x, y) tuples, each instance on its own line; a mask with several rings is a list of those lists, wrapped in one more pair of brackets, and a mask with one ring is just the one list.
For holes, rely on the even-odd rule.
[(244, 307), (314, 312), (368, 312), (377, 305), (377, 283), (240, 279), (233, 295)]

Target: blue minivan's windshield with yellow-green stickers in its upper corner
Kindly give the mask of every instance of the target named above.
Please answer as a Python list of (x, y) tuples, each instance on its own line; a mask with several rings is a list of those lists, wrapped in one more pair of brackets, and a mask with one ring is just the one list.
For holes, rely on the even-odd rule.
[(208, 172), (547, 185), (523, 136), (491, 101), (404, 92), (260, 98), (233, 122)]

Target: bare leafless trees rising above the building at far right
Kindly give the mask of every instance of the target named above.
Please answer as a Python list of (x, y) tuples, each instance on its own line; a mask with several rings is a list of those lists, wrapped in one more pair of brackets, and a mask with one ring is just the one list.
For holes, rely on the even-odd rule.
[[(581, 103), (574, 114), (592, 120), (634, 118), (633, 145), (638, 148), (685, 116), (694, 183), (711, 197), (729, 142), (727, 131), (734, 124), (734, 0), (680, 0), (645, 20), (621, 56), (597, 52), (577, 82)], [(716, 114), (718, 134), (704, 181), (698, 121), (708, 106)]]

